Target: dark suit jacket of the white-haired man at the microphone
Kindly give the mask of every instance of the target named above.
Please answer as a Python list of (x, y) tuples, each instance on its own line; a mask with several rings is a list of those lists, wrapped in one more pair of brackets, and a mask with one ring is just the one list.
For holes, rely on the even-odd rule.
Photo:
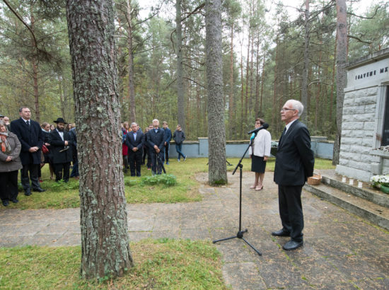
[(279, 139), (274, 182), (278, 185), (304, 185), (313, 175), (314, 165), (310, 134), (306, 125), (296, 120)]

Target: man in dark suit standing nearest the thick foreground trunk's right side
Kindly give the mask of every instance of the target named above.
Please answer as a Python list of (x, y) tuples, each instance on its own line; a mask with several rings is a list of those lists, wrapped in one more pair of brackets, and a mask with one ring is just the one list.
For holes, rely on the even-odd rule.
[(135, 169), (137, 169), (137, 176), (141, 176), (141, 162), (143, 156), (144, 134), (138, 131), (138, 124), (131, 124), (132, 131), (127, 132), (126, 145), (128, 147), (129, 170), (131, 176), (135, 176)]

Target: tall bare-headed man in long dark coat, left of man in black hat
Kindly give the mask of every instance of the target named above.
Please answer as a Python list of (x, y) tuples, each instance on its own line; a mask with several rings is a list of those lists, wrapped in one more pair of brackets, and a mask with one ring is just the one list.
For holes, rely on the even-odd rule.
[[(21, 117), (18, 120), (11, 122), (11, 132), (18, 136), (22, 144), (20, 157), (23, 165), (21, 182), (24, 194), (31, 195), (31, 187), (33, 187), (33, 191), (44, 192), (45, 190), (40, 187), (37, 177), (42, 159), (40, 150), (44, 140), (42, 129), (38, 122), (30, 120), (31, 111), (29, 108), (20, 108), (19, 115)], [(30, 176), (28, 176), (28, 172), (30, 172)]]

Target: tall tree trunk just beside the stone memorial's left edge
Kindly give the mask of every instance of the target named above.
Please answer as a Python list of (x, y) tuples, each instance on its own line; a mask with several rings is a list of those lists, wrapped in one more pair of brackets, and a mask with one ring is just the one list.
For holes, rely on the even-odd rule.
[(337, 135), (334, 143), (332, 164), (339, 164), (340, 141), (342, 134), (342, 116), (344, 88), (346, 88), (347, 71), (347, 7), (345, 0), (337, 0)]

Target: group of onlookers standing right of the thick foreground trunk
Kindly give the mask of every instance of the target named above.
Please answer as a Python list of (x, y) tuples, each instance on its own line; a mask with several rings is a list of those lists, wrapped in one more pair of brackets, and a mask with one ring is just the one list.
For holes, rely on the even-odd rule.
[[(185, 140), (185, 133), (180, 124), (172, 135), (168, 122), (159, 126), (159, 120), (154, 119), (144, 132), (139, 124), (124, 122), (122, 124), (122, 155), (124, 173), (130, 170), (131, 176), (141, 176), (141, 166), (146, 165), (153, 175), (161, 174), (164, 165), (169, 165), (170, 140), (175, 141), (175, 148), (178, 152), (178, 162), (187, 158), (182, 153), (182, 142)], [(146, 163), (147, 157), (147, 163)]]

